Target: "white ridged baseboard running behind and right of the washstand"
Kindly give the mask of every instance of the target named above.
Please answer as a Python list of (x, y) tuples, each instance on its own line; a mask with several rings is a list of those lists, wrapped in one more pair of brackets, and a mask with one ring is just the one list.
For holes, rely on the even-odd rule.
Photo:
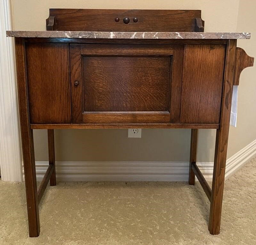
[[(256, 156), (256, 140), (227, 160), (226, 179)], [(197, 162), (207, 180), (213, 162)], [(36, 174), (44, 177), (48, 162), (36, 162)], [(56, 162), (59, 181), (187, 181), (189, 162)]]

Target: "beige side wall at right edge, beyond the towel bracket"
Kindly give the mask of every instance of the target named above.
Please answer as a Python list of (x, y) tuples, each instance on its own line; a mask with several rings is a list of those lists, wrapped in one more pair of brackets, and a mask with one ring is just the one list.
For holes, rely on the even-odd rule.
[[(240, 0), (237, 31), (250, 31), (250, 41), (238, 40), (238, 46), (256, 57), (256, 1)], [(240, 77), (237, 128), (230, 127), (228, 156), (256, 139), (256, 61)]]

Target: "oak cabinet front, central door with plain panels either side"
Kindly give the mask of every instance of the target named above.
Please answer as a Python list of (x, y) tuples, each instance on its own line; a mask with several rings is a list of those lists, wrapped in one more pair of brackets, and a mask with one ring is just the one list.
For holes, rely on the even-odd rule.
[(218, 124), (225, 52), (224, 44), (26, 43), (31, 122)]

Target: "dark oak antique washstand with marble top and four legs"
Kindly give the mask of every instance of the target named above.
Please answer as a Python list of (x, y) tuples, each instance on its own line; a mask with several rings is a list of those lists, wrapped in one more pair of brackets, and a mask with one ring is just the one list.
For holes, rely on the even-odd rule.
[[(50, 9), (47, 31), (15, 37), (29, 236), (38, 203), (56, 185), (55, 128), (191, 128), (195, 175), (219, 234), (233, 85), (253, 58), (249, 33), (207, 33), (200, 10)], [(212, 188), (196, 165), (198, 128), (215, 128)], [(49, 168), (37, 190), (33, 129), (48, 129)]]

